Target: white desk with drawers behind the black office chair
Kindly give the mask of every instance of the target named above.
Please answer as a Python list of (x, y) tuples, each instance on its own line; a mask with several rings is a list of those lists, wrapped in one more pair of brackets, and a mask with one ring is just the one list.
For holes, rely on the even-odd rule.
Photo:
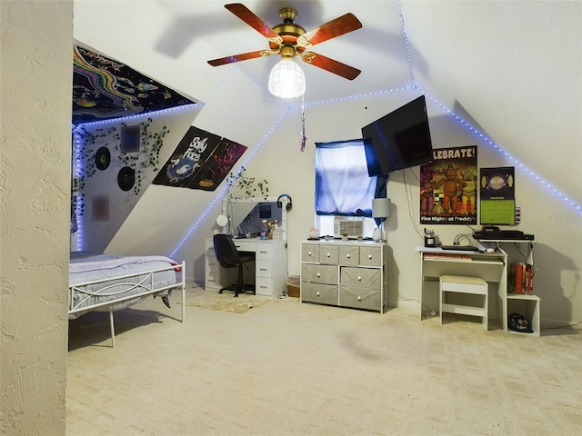
[[(244, 268), (245, 282), (256, 285), (256, 295), (277, 298), (286, 292), (287, 250), (286, 241), (275, 239), (235, 239), (239, 252), (256, 253), (256, 262), (249, 263), (251, 271)], [(212, 238), (206, 239), (205, 289), (216, 289), (236, 283), (236, 268), (222, 268), (216, 260)]]

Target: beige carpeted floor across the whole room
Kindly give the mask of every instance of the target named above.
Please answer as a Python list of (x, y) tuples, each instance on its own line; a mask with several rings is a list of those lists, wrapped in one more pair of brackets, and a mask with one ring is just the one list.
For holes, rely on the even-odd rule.
[[(149, 299), (70, 325), (67, 434), (574, 435), (582, 334), (540, 338), (267, 301), (245, 313)], [(232, 298), (232, 297), (230, 297)], [(84, 320), (85, 319), (85, 320)]]

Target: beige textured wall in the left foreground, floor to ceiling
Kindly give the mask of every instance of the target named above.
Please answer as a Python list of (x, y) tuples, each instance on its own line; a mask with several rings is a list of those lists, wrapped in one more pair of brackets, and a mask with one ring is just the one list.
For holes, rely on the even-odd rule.
[(0, 2), (0, 434), (65, 434), (73, 2)]

